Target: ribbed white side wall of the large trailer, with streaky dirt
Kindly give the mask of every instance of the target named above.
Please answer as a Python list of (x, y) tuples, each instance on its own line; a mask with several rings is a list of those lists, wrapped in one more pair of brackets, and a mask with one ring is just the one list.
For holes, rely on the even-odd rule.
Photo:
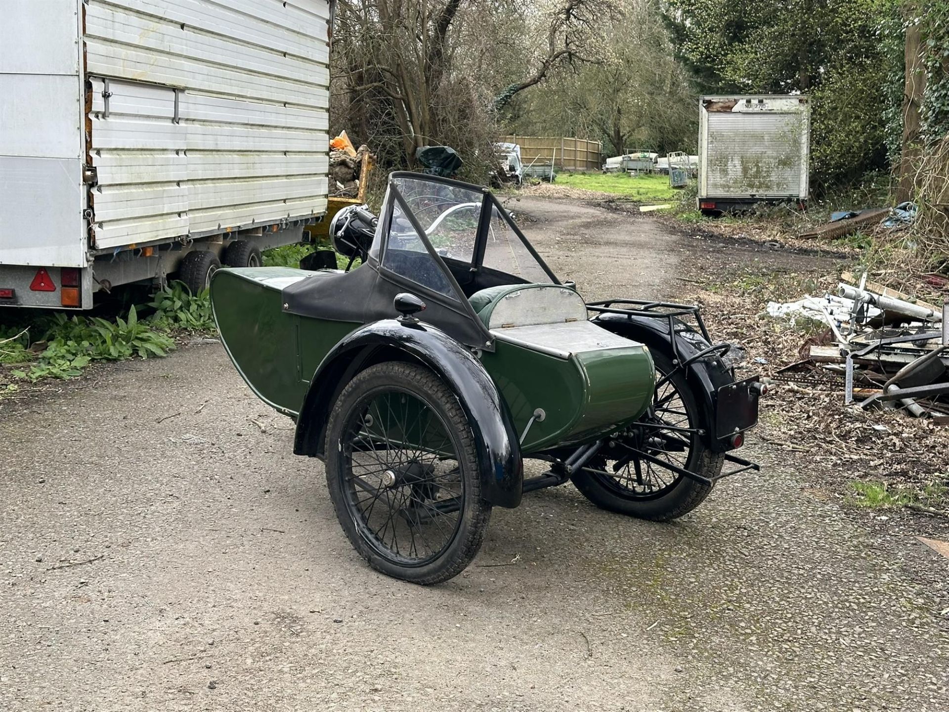
[(328, 19), (320, 0), (90, 0), (93, 247), (322, 214)]

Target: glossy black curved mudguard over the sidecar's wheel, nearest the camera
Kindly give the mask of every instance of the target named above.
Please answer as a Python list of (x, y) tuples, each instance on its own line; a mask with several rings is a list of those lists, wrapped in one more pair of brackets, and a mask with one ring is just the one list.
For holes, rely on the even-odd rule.
[(520, 445), (507, 403), (471, 351), (428, 324), (383, 319), (357, 328), (320, 363), (297, 418), (293, 452), (325, 456), (329, 413), (345, 384), (363, 368), (409, 361), (431, 368), (455, 393), (474, 436), (481, 497), (516, 507), (523, 490)]

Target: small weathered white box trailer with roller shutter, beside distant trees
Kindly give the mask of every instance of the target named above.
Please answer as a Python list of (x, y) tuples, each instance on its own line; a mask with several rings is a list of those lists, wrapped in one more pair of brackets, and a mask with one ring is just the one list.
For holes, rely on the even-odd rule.
[(806, 96), (705, 96), (699, 100), (698, 208), (706, 214), (758, 202), (808, 199), (810, 103)]

